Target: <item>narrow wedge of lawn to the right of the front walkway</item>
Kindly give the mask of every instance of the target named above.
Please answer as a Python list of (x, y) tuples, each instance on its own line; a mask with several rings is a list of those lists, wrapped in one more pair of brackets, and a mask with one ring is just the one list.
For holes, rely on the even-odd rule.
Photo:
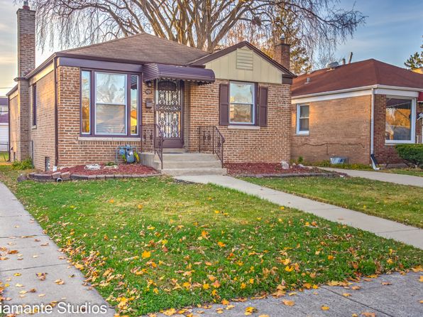
[(246, 181), (423, 227), (423, 188), (365, 178), (246, 178)]

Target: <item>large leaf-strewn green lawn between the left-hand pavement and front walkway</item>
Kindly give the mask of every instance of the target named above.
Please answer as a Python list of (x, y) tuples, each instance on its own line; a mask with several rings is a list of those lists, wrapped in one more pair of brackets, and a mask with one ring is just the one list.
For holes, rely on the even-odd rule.
[(423, 257), (217, 186), (171, 178), (16, 183), (18, 172), (5, 167), (0, 175), (100, 294), (129, 316), (407, 269)]

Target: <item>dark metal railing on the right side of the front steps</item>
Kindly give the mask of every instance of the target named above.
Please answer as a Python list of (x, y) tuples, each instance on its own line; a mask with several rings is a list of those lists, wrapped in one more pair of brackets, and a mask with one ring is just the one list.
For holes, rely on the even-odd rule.
[(200, 126), (199, 152), (212, 152), (216, 154), (224, 167), (224, 143), (225, 138), (216, 126)]

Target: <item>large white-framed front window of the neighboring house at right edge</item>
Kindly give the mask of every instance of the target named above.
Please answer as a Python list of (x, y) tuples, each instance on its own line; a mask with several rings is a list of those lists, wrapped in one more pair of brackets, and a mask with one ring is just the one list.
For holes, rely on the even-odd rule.
[(414, 143), (415, 100), (386, 98), (385, 140), (387, 143)]

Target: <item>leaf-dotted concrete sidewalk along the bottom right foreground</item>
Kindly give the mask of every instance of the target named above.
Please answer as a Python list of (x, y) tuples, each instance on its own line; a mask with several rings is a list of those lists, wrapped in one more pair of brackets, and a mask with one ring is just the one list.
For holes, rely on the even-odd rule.
[[(423, 304), (419, 303), (423, 299), (423, 289), (419, 275), (414, 272), (382, 275), (377, 279), (362, 280), (348, 286), (323, 285), (319, 289), (287, 292), (279, 298), (269, 296), (266, 299), (248, 299), (244, 302), (230, 302), (226, 306), (214, 304), (187, 309), (186, 313), (192, 312), (194, 316), (244, 316), (246, 308), (253, 307), (256, 313), (252, 316), (256, 317), (420, 317), (423, 316)], [(285, 305), (283, 301), (293, 301), (292, 306)], [(157, 316), (165, 315), (158, 313)]]

